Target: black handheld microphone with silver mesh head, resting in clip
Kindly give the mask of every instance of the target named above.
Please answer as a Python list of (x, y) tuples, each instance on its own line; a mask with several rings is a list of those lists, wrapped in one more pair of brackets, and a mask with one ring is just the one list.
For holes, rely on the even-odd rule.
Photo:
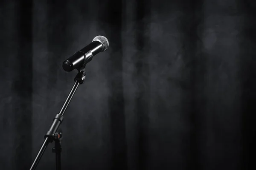
[(89, 45), (77, 51), (73, 56), (69, 57), (62, 64), (64, 71), (72, 71), (74, 69), (80, 69), (93, 59), (93, 56), (99, 52), (106, 51), (108, 49), (108, 39), (101, 35), (93, 38), (93, 42)]

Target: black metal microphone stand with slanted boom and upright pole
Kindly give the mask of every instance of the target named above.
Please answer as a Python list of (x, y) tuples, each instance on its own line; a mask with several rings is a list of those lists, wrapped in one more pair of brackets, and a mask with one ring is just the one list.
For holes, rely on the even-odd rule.
[[(85, 67), (85, 65), (84, 65)], [(56, 114), (56, 116), (53, 119), (52, 125), (50, 126), (49, 130), (47, 133), (44, 135), (44, 142), (38, 151), (37, 156), (35, 157), (34, 162), (32, 163), (31, 167), (29, 170), (35, 170), (36, 166), (38, 165), (41, 157), (44, 154), (45, 149), (47, 148), (47, 145), (49, 143), (52, 143), (55, 141), (55, 147), (52, 148), (52, 152), (55, 153), (55, 168), (56, 170), (61, 170), (61, 140), (62, 140), (62, 133), (57, 132), (58, 127), (61, 125), (63, 122), (63, 115), (64, 112), (67, 109), (67, 106), (69, 105), (73, 95), (75, 94), (78, 86), (80, 84), (83, 84), (86, 73), (84, 71), (84, 68), (78, 69), (79, 73), (75, 77), (75, 84), (73, 85), (73, 88), (71, 89), (69, 95), (67, 96), (66, 101), (64, 102), (64, 105), (61, 108), (61, 111)]]

